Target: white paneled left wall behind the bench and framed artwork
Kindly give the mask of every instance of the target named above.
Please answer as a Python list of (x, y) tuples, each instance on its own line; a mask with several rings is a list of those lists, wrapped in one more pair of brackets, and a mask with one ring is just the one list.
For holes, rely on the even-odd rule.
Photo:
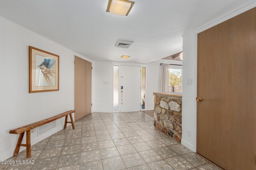
[[(59, 91), (28, 93), (29, 45), (60, 56)], [(0, 160), (5, 160), (12, 156), (18, 139), (9, 134), (10, 129), (74, 109), (74, 51), (0, 16), (0, 109)], [(32, 133), (32, 145), (63, 125), (64, 118), (40, 137)]]

